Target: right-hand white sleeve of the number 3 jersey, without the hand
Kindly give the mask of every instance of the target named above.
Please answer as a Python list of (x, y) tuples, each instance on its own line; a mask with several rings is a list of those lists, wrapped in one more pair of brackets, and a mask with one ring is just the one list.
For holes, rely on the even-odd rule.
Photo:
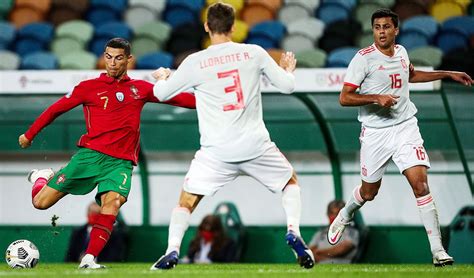
[(293, 73), (281, 68), (270, 55), (260, 46), (255, 46), (262, 73), (270, 83), (283, 94), (291, 94), (295, 89), (295, 76)]

